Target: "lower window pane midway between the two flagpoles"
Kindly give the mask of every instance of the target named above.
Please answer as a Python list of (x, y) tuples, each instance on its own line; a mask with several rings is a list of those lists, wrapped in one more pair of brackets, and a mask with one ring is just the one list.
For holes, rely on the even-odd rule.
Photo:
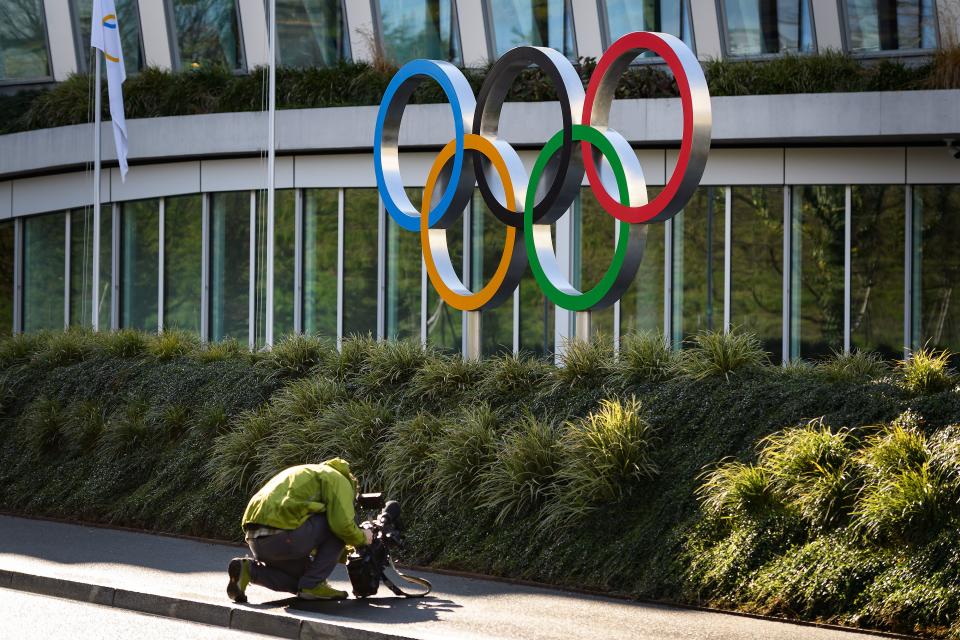
[(167, 198), (163, 218), (163, 326), (200, 333), (202, 196)]

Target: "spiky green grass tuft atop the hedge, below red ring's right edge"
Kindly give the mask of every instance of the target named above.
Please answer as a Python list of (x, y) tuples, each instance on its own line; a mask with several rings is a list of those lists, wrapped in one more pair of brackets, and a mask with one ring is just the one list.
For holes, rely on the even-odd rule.
[(702, 331), (677, 354), (674, 370), (694, 380), (714, 376), (729, 380), (732, 373), (758, 369), (768, 362), (766, 351), (753, 334)]

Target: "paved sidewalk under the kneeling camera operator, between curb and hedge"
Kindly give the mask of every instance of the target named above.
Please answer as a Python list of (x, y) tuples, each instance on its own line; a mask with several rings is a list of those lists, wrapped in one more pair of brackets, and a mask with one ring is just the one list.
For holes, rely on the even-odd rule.
[[(226, 602), (225, 567), (238, 551), (226, 545), (0, 516), (0, 569), (199, 602)], [(869, 637), (486, 580), (427, 577), (434, 593), (424, 599), (395, 598), (383, 589), (368, 600), (303, 603), (292, 608), (295, 601), (285, 594), (250, 587), (246, 606), (422, 640)], [(342, 567), (333, 582), (348, 589)]]

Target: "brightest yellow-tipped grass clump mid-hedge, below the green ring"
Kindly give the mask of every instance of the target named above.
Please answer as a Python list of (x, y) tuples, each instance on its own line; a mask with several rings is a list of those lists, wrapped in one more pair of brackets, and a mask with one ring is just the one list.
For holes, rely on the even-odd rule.
[(635, 397), (601, 401), (596, 411), (567, 424), (560, 445), (563, 464), (543, 508), (545, 530), (616, 504), (659, 473), (654, 430)]

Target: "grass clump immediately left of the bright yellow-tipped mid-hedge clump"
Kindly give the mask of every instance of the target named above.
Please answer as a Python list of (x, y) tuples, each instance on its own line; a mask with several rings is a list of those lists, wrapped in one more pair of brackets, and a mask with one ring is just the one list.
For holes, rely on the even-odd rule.
[(490, 512), (497, 524), (533, 514), (546, 500), (562, 461), (557, 428), (530, 414), (523, 416), (480, 471), (479, 508)]

